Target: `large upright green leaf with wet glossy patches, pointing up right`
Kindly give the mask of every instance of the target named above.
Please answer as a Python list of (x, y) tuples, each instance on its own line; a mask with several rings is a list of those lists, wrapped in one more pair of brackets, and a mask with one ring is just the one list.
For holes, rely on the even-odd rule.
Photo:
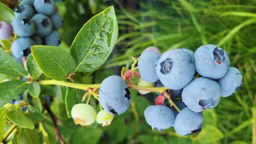
[(75, 37), (70, 49), (77, 63), (75, 71), (98, 69), (112, 52), (117, 37), (118, 23), (112, 6), (86, 22)]

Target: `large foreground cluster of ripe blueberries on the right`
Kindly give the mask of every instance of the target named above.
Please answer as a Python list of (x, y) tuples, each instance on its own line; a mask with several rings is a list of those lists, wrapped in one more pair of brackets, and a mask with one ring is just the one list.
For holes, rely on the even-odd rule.
[(138, 69), (143, 80), (171, 89), (171, 99), (182, 98), (173, 100), (181, 110), (178, 112), (162, 105), (160, 94), (156, 105), (144, 111), (147, 123), (157, 130), (174, 127), (183, 136), (201, 131), (202, 111), (216, 107), (220, 97), (228, 97), (242, 85), (240, 70), (230, 67), (225, 50), (212, 44), (200, 46), (195, 53), (183, 48), (162, 55), (157, 48), (149, 47), (142, 52)]

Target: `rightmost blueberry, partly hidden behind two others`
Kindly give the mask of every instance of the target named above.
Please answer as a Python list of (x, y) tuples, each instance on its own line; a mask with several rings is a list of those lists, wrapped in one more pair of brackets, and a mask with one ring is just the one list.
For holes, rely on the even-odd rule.
[(229, 67), (226, 74), (218, 80), (222, 88), (222, 97), (235, 93), (242, 85), (242, 75), (237, 68)]

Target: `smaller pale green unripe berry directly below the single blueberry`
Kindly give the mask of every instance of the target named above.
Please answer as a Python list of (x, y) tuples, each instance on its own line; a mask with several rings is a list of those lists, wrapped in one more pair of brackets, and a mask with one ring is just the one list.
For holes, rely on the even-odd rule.
[(110, 125), (112, 120), (114, 119), (114, 115), (111, 115), (106, 110), (101, 110), (97, 113), (96, 121), (99, 124), (102, 124), (102, 127)]

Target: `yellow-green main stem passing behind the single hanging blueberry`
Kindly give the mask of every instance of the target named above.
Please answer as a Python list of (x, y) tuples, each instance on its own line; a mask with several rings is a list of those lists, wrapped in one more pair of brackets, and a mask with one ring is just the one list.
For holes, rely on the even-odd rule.
[[(72, 88), (83, 89), (83, 90), (87, 90), (88, 88), (101, 87), (101, 84), (84, 85), (79, 83), (57, 81), (57, 80), (42, 80), (42, 81), (39, 81), (39, 83), (41, 85), (59, 85), (59, 86), (66, 86), (66, 87), (72, 87)], [(127, 85), (127, 86), (131, 89), (137, 89), (137, 90), (149, 91), (149, 92), (159, 92), (159, 93), (162, 93), (168, 89), (166, 87), (142, 87), (142, 86), (136, 86), (136, 85)]]

